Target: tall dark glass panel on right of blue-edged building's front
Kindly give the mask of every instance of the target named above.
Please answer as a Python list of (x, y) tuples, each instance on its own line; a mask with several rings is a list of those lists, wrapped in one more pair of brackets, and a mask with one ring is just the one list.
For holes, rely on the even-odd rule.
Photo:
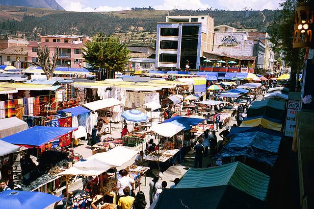
[(190, 69), (196, 69), (199, 26), (184, 25), (181, 38), (180, 68), (185, 69), (187, 60)]

